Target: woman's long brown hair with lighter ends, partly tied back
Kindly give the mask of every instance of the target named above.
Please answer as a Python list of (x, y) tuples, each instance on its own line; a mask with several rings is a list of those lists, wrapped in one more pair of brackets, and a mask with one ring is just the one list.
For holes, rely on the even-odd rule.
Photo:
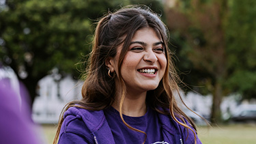
[[(180, 87), (178, 86), (180, 79), (177, 76), (173, 62), (171, 61), (172, 53), (168, 48), (169, 33), (167, 27), (162, 23), (159, 17), (158, 14), (152, 12), (152, 10), (145, 5), (132, 5), (117, 10), (117, 12), (114, 13), (109, 12), (100, 18), (94, 33), (92, 51), (89, 55), (89, 61), (87, 61), (88, 66), (85, 74), (83, 74), (83, 77), (85, 77), (85, 82), (82, 87), (83, 98), (79, 101), (68, 103), (66, 109), (63, 109), (53, 143), (57, 143), (58, 141), (61, 124), (63, 123), (63, 113), (67, 111), (68, 108), (71, 106), (79, 106), (91, 111), (107, 109), (115, 101), (117, 95), (115, 93), (116, 91), (121, 91), (122, 96), (119, 104), (119, 112), (122, 121), (126, 124), (126, 121), (124, 121), (122, 117), (122, 104), (126, 95), (126, 85), (120, 73), (120, 68), (134, 33), (143, 27), (151, 27), (157, 33), (160, 33), (162, 41), (164, 42), (165, 56), (167, 57), (168, 63), (165, 74), (158, 87), (154, 90), (147, 91), (147, 106), (158, 111), (158, 113), (171, 115), (178, 124), (192, 130), (185, 123), (184, 119), (186, 119), (196, 130), (193, 121), (182, 112), (179, 106), (177, 106), (175, 96), (173, 95), (173, 93), (178, 93), (178, 96), (180, 97)], [(119, 74), (116, 74), (115, 77), (110, 77), (105, 61), (109, 57), (115, 57), (117, 46), (120, 44), (123, 44), (123, 48), (119, 55), (119, 70), (117, 71)], [(115, 78), (118, 78), (120, 82), (119, 89), (116, 89), (115, 87)], [(160, 110), (159, 108), (163, 110)], [(181, 121), (178, 119), (181, 119)], [(126, 124), (126, 126), (132, 130), (145, 134), (145, 132), (132, 128), (128, 124)], [(145, 134), (145, 139), (146, 136), (147, 134)], [(196, 142), (195, 132), (194, 136)]]

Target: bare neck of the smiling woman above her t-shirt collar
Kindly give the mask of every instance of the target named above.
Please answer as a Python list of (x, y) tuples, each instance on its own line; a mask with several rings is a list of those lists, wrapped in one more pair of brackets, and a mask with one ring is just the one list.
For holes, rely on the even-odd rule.
[[(126, 93), (124, 104), (122, 106), (122, 113), (130, 117), (141, 117), (147, 112), (147, 106), (145, 104), (146, 93)], [(117, 96), (113, 104), (113, 108), (119, 111), (119, 101), (121, 96)]]

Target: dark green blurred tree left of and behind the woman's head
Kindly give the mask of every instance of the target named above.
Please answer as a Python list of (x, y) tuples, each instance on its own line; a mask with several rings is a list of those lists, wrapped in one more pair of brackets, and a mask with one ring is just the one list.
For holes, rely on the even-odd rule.
[(79, 77), (75, 63), (90, 52), (93, 24), (104, 13), (129, 4), (163, 12), (154, 0), (6, 0), (0, 5), (0, 61), (25, 84), (32, 104), (38, 81), (53, 68)]

